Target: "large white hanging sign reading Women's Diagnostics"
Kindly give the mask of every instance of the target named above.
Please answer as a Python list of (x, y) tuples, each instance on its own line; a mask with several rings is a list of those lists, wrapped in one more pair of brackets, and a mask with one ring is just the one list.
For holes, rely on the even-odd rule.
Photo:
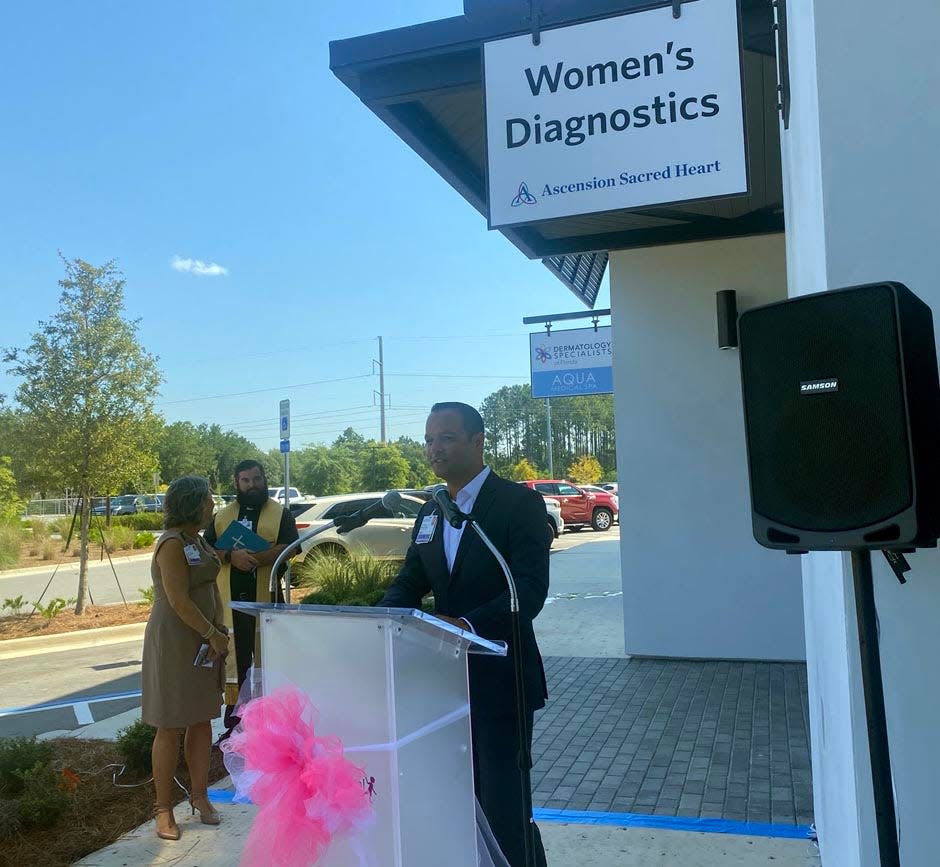
[(491, 227), (747, 192), (737, 0), (484, 46)]

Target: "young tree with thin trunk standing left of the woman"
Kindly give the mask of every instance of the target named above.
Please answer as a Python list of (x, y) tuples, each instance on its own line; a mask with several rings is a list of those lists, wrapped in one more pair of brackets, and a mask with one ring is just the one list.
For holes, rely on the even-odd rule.
[(156, 468), (162, 381), (157, 359), (137, 341), (139, 320), (124, 318), (124, 278), (113, 262), (65, 259), (59, 309), (40, 322), (29, 346), (7, 349), (7, 372), (22, 382), (24, 435), (55, 486), (81, 496), (81, 559), (75, 613), (88, 595), (91, 495)]

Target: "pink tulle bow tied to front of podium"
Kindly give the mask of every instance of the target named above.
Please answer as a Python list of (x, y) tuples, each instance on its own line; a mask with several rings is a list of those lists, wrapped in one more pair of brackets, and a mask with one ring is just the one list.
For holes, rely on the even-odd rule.
[(337, 737), (314, 732), (317, 711), (295, 687), (256, 698), (222, 744), (239, 795), (258, 805), (242, 854), (246, 867), (316, 864), (334, 837), (366, 827), (365, 771)]

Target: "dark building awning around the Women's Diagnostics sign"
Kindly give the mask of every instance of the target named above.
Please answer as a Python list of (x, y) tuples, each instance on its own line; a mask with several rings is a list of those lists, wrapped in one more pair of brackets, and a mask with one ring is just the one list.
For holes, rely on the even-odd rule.
[[(695, 2), (695, 0), (685, 0)], [(330, 43), (330, 68), (484, 216), (483, 44), (672, 0), (465, 0), (464, 14)], [(607, 251), (783, 231), (771, 6), (741, 0), (750, 192), (502, 228), (592, 307)], [(534, 11), (533, 11), (534, 10)]]

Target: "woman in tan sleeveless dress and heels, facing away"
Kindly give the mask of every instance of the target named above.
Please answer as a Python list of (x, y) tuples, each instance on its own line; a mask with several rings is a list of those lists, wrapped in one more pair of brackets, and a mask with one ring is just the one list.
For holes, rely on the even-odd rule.
[[(219, 561), (199, 535), (212, 519), (212, 509), (206, 479), (183, 476), (174, 481), (163, 505), (166, 532), (150, 566), (154, 602), (144, 633), (141, 718), (157, 729), (152, 753), (154, 814), (157, 836), (164, 840), (180, 838), (172, 796), (183, 730), (193, 814), (199, 810), (207, 825), (219, 823), (207, 796), (210, 721), (221, 712), (229, 639), (215, 581)], [(208, 667), (193, 664), (203, 644), (208, 645)]]

